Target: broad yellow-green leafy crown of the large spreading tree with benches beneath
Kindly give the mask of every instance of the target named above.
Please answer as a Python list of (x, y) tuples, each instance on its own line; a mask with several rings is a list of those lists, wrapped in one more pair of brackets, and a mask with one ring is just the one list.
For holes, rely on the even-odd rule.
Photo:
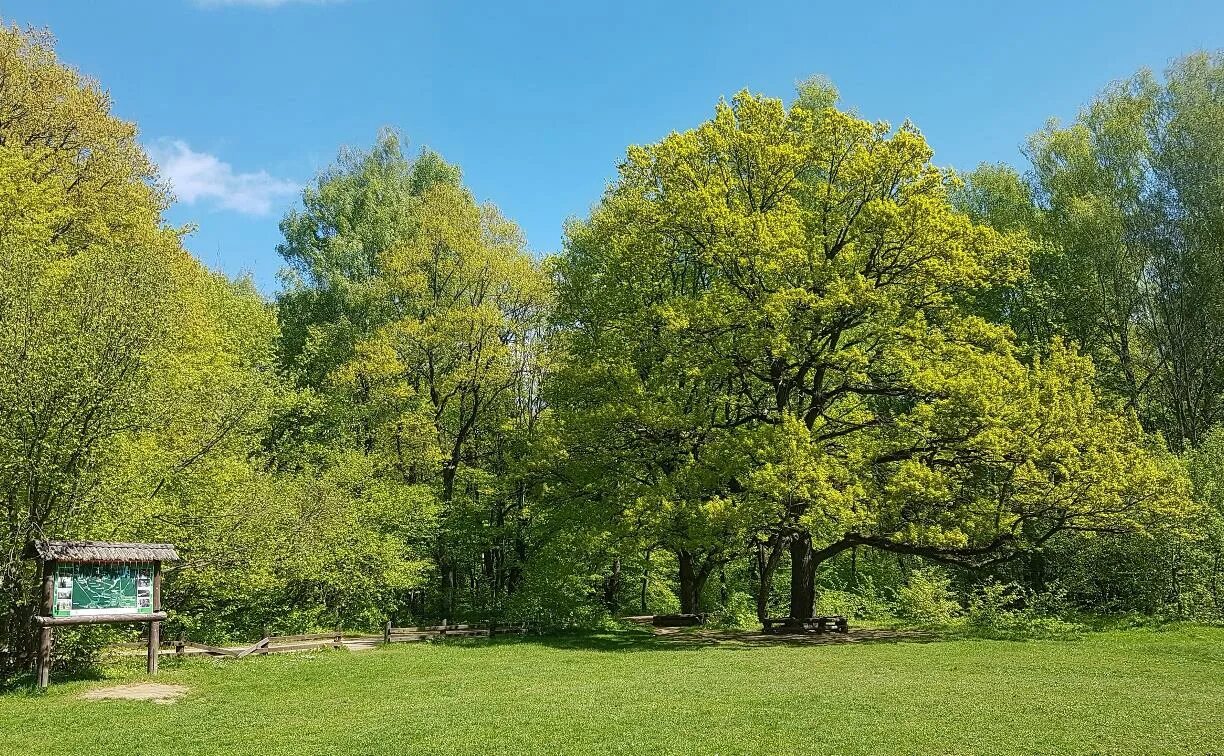
[(734, 502), (782, 541), (969, 558), (1184, 508), (1091, 363), (1026, 365), (971, 307), (1023, 279), (1023, 230), (956, 210), (912, 125), (829, 103), (739, 93), (570, 229), (561, 409), (621, 450), (634, 521), (693, 548)]

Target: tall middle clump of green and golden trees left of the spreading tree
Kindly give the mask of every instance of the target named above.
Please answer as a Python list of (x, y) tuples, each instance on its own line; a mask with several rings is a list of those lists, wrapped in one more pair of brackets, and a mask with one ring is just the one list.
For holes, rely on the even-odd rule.
[(435, 531), (414, 546), (432, 564), (437, 617), (498, 612), (521, 580), (546, 280), (458, 169), (427, 152), (408, 160), (393, 132), (343, 153), (302, 199), (282, 223), (278, 311), (283, 362), (321, 400), (307, 438), (365, 458), (393, 498), (432, 493), (433, 514), (401, 513), (419, 522), (398, 527)]

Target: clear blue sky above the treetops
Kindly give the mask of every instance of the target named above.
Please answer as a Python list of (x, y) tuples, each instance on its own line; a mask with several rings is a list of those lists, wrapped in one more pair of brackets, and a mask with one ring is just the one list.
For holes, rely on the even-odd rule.
[(277, 287), (277, 224), (343, 144), (382, 126), (463, 166), (482, 201), (559, 247), (632, 143), (741, 88), (832, 78), (912, 119), (935, 161), (1021, 160), (1026, 136), (1140, 67), (1224, 46), (1224, 2), (412, 2), (0, 0), (100, 80), (175, 183), (170, 220)]

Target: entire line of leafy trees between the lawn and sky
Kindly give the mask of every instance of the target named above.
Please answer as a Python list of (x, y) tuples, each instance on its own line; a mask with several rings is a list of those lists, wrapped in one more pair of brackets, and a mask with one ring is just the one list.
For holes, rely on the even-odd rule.
[(175, 543), (170, 632), (217, 641), (1219, 619), (1224, 59), (1110, 86), (1021, 169), (837, 103), (741, 92), (629, 147), (543, 257), (384, 131), (284, 217), (269, 300), (186, 252), (102, 86), (4, 29), (6, 668), (37, 538)]

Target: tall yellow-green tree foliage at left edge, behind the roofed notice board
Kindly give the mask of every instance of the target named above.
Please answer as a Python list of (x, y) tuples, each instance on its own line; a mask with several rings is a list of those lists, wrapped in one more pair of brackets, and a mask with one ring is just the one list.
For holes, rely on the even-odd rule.
[[(163, 228), (154, 169), (109, 108), (48, 35), (0, 31), (0, 645), (18, 659), (34, 608), (24, 544), (151, 514), (154, 478), (220, 443), (193, 447), (229, 426), (213, 401), (244, 399), (226, 383), (234, 335), (208, 308), (222, 285)], [(180, 435), (201, 405), (211, 422)], [(116, 502), (125, 471), (151, 484)]]

